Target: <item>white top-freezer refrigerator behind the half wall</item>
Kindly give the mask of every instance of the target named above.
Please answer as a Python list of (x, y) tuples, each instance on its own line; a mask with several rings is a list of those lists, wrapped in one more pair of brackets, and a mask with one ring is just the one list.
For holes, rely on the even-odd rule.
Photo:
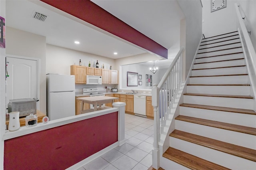
[(46, 111), (50, 121), (75, 115), (74, 75), (47, 74), (46, 93)]

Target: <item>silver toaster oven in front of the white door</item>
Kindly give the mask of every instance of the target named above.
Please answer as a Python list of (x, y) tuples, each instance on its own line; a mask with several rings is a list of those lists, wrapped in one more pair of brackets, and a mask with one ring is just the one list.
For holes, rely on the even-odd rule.
[(8, 103), (8, 113), (20, 112), (20, 117), (36, 114), (36, 100), (34, 99), (11, 99)]

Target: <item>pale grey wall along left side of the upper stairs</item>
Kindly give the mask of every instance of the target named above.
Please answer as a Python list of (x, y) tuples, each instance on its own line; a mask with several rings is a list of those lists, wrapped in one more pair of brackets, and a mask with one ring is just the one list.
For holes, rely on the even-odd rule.
[(178, 3), (186, 16), (185, 73), (187, 76), (190, 71), (196, 49), (202, 38), (202, 5), (200, 0), (179, 0)]

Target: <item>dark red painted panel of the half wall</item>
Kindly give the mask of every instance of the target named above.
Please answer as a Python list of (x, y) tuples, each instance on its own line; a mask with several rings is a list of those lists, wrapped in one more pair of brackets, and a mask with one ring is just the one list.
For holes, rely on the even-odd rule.
[(117, 141), (114, 112), (5, 140), (4, 169), (66, 169)]

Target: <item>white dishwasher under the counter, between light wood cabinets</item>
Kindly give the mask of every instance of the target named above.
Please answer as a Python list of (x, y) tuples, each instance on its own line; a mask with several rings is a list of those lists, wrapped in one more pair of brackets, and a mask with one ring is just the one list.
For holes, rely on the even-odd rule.
[(134, 95), (133, 109), (135, 115), (146, 116), (146, 96)]

